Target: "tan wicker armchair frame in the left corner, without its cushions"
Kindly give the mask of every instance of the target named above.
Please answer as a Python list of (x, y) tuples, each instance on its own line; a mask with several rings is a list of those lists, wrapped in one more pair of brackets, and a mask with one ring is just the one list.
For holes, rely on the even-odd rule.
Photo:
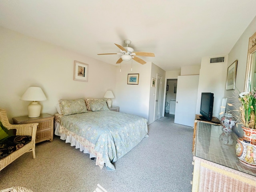
[(8, 130), (16, 129), (16, 135), (32, 136), (32, 140), (28, 144), (24, 145), (22, 148), (12, 152), (10, 155), (0, 160), (0, 171), (26, 152), (32, 151), (33, 158), (36, 158), (35, 146), (36, 129), (38, 123), (12, 125), (8, 121), (5, 110), (2, 109), (0, 109), (0, 121), (2, 122), (2, 125)]

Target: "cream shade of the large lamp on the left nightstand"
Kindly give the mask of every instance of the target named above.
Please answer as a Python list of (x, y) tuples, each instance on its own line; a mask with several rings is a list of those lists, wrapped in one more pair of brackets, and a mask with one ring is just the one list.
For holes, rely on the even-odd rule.
[(20, 100), (44, 101), (46, 100), (46, 96), (40, 87), (29, 87), (21, 96)]

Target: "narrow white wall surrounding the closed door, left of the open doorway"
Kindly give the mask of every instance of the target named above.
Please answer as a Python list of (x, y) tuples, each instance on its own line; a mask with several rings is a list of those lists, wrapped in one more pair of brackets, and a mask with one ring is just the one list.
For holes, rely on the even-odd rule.
[(156, 78), (156, 74), (159, 74), (162, 76), (162, 88), (161, 88), (161, 96), (160, 96), (160, 118), (163, 116), (162, 115), (162, 111), (164, 110), (164, 94), (166, 91), (166, 86), (165, 86), (165, 71), (158, 67), (157, 65), (155, 65), (154, 63), (152, 63), (152, 67), (151, 67), (151, 77), (150, 77), (150, 100), (149, 100), (149, 114), (148, 114), (148, 124), (151, 124), (152, 122), (154, 122), (154, 111), (155, 111), (155, 100), (156, 100), (156, 87), (151, 87), (151, 79), (152, 78)]

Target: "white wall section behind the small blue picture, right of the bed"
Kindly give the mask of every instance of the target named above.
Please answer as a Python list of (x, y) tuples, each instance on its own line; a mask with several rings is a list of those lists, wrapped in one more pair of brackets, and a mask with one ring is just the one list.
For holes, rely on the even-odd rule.
[[(139, 84), (127, 84), (128, 74), (139, 74)], [(135, 114), (148, 119), (149, 97), (150, 97), (150, 74), (151, 63), (144, 65), (137, 62), (122, 62), (116, 68), (116, 105), (120, 112)]]

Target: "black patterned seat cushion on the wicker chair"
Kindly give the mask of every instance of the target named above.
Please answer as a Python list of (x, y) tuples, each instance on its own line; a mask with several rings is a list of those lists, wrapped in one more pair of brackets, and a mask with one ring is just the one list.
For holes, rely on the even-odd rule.
[(32, 140), (32, 136), (8, 136), (0, 141), (0, 159), (22, 148)]

